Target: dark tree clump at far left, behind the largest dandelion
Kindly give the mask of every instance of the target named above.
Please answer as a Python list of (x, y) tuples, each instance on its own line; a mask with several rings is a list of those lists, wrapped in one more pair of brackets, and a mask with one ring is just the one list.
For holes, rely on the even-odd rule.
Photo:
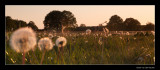
[(13, 31), (20, 27), (26, 27), (27, 23), (22, 20), (12, 19), (10, 16), (6, 16), (6, 31)]

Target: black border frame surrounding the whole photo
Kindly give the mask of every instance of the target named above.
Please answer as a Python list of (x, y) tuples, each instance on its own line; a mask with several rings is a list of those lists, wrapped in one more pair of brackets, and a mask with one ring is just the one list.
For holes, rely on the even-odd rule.
[[(5, 65), (5, 47), (1, 46), (3, 48), (1, 48), (1, 56), (0, 57), (0, 63), (2, 68), (1, 69), (26, 69), (26, 70), (30, 70), (30, 69), (96, 69), (96, 70), (124, 70), (124, 69), (128, 69), (128, 70), (154, 70), (154, 69), (159, 69), (160, 70), (160, 55), (159, 50), (160, 47), (158, 46), (158, 41), (160, 39), (160, 26), (158, 23), (160, 23), (160, 21), (158, 19), (159, 18), (159, 12), (160, 12), (160, 4), (158, 2), (158, 0), (112, 0), (112, 1), (108, 1), (108, 0), (102, 0), (102, 1), (77, 1), (77, 0), (57, 0), (57, 1), (51, 1), (51, 0), (40, 0), (40, 1), (33, 1), (33, 0), (1, 0), (0, 2), (1, 5), (1, 14), (3, 14), (3, 16), (1, 15), (0, 18), (3, 19), (1, 20), (1, 24), (5, 23), (5, 5), (155, 5), (155, 31), (156, 31), (156, 35), (155, 35), (155, 58), (156, 58), (156, 62), (155, 65)], [(5, 24), (1, 27), (2, 30), (1, 32), (3, 32), (3, 36), (1, 36), (1, 39), (5, 40), (5, 28), (3, 28), (5, 26)], [(5, 41), (3, 40), (5, 45)], [(2, 60), (3, 59), (3, 60)]]

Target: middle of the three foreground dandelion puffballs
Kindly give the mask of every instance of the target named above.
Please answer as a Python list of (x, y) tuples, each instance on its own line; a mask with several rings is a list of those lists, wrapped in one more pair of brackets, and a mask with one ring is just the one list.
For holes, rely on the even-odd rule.
[(53, 43), (48, 37), (41, 38), (38, 42), (38, 48), (42, 50), (51, 50), (53, 48)]

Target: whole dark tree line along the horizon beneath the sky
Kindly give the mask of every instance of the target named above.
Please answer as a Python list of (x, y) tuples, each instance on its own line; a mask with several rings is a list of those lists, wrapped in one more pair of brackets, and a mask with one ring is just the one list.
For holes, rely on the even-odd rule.
[[(110, 31), (152, 31), (155, 25), (151, 22), (146, 23), (146, 25), (141, 25), (141, 23), (134, 18), (126, 18), (125, 21), (118, 16), (113, 15), (109, 19), (109, 22), (105, 22), (105, 26), (99, 24), (97, 27), (87, 27), (85, 24), (78, 26), (76, 17), (70, 11), (58, 11), (53, 10), (49, 12), (43, 21), (44, 30), (70, 30), (70, 31), (83, 31), (86, 28), (91, 28), (92, 30), (102, 30), (102, 27), (107, 27)], [(33, 21), (26, 23), (22, 20), (12, 19), (10, 16), (6, 16), (6, 30), (12, 31), (20, 27), (31, 27), (33, 30), (39, 30)], [(95, 29), (96, 28), (96, 29)]]

